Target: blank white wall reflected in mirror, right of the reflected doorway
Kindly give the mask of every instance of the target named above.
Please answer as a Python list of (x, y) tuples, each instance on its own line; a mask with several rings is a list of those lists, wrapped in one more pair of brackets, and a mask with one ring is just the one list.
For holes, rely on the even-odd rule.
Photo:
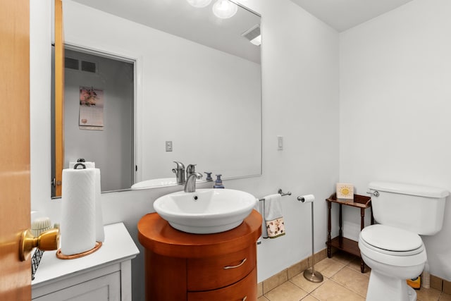
[[(161, 32), (164, 39), (156, 39), (155, 30), (130, 25), (149, 36), (138, 47), (147, 85), (137, 181), (173, 177), (173, 161), (223, 178), (260, 174), (260, 65)], [(173, 142), (172, 152), (165, 141)]]

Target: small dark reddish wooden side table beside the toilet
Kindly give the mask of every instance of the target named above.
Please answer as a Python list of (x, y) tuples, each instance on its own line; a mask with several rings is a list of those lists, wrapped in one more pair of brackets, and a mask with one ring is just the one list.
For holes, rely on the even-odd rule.
[[(369, 208), (371, 210), (371, 225), (374, 223), (373, 218), (373, 209), (371, 208), (371, 197), (366, 197), (365, 195), (354, 195), (354, 202), (344, 202), (337, 199), (337, 195), (334, 193), (333, 195), (330, 195), (326, 199), (326, 202), (328, 202), (328, 228), (327, 228), (327, 257), (331, 257), (331, 249), (332, 247), (337, 248), (338, 250), (345, 251), (347, 253), (356, 255), (360, 257), (360, 271), (364, 273), (365, 271), (365, 264), (362, 260), (362, 257), (360, 256), (360, 250), (359, 250), (359, 243), (355, 240), (350, 240), (349, 238), (344, 238), (342, 233), (342, 205), (350, 206), (350, 207), (357, 207), (360, 209), (360, 230), (365, 227), (364, 221), (365, 221), (365, 209)], [(330, 238), (330, 230), (332, 228), (332, 224), (330, 221), (330, 209), (332, 208), (332, 203), (337, 203), (340, 205), (340, 215), (338, 219), (339, 223), (339, 231), (338, 236), (335, 238)]]

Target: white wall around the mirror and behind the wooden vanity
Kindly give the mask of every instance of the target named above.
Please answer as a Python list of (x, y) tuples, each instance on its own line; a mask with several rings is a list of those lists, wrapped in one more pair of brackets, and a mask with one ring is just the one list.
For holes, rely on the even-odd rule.
[[(224, 184), (256, 197), (276, 193), (278, 188), (292, 192), (291, 197), (283, 197), (287, 235), (264, 240), (258, 247), (258, 281), (263, 281), (311, 254), (310, 206), (297, 202), (298, 195), (316, 195), (315, 250), (325, 247), (323, 200), (333, 192), (338, 180), (338, 33), (288, 0), (250, 2), (249, 6), (262, 16), (263, 176), (226, 180)], [(32, 16), (38, 13), (36, 8)], [(45, 27), (48, 20), (39, 18), (35, 23)], [(45, 28), (33, 35), (32, 40), (50, 44)], [(49, 56), (44, 48), (36, 51), (37, 57)], [(37, 59), (31, 64), (44, 72), (50, 68), (50, 63), (48, 67), (40, 66)], [(32, 85), (49, 85), (49, 78), (32, 74)], [(39, 104), (34, 116), (48, 116), (49, 99), (49, 92), (33, 95), (32, 106)], [(50, 118), (35, 119), (32, 116), (32, 135), (47, 137)], [(283, 151), (276, 150), (277, 135), (284, 137)], [(33, 139), (32, 150), (39, 148), (47, 161), (50, 144), (38, 145)], [(47, 163), (32, 159), (32, 181), (36, 179), (32, 183), (32, 209), (44, 211), (58, 221), (61, 202), (50, 199), (49, 160)], [(209, 185), (204, 183), (199, 188)], [(154, 199), (177, 190), (180, 187), (103, 194), (104, 221), (123, 221), (140, 247), (137, 221), (154, 211)], [(144, 298), (143, 260), (140, 254), (132, 263), (134, 300)]]

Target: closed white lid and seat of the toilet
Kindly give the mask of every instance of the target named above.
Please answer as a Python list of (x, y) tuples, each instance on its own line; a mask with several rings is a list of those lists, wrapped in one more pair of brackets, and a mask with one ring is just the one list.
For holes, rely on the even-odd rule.
[(381, 224), (364, 228), (360, 238), (367, 247), (394, 256), (418, 254), (424, 249), (423, 240), (418, 234)]

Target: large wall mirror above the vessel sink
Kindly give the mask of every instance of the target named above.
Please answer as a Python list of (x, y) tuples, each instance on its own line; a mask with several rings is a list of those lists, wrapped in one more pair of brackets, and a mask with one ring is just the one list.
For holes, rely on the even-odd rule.
[[(124, 61), (125, 66), (105, 73), (120, 72), (134, 80), (130, 92), (134, 113), (123, 113), (130, 115), (131, 130), (125, 126), (126, 130), (114, 130), (114, 135), (128, 135), (124, 141), (129, 145), (109, 147), (102, 142), (94, 146), (97, 152), (87, 148), (75, 152), (65, 143), (62, 168), (78, 157), (96, 161), (102, 191), (129, 189), (155, 179), (175, 180), (173, 161), (197, 164), (196, 171), (221, 173), (225, 179), (261, 175), (261, 46), (253, 40), (260, 16), (238, 6), (235, 16), (221, 19), (212, 13), (213, 5), (214, 1), (195, 8), (186, 0), (63, 0), (64, 42), (70, 49), (66, 57), (74, 58), (74, 50), (80, 51), (80, 61), (99, 62), (99, 68), (103, 60), (89, 55)], [(73, 71), (66, 70), (66, 78), (67, 72)], [(106, 74), (100, 73), (104, 78)], [(104, 114), (113, 95), (119, 101), (122, 97), (111, 85), (94, 80), (73, 86), (100, 90)], [(78, 90), (69, 96), (76, 97)], [(87, 130), (80, 128), (81, 111), (78, 104), (74, 107), (64, 113), (64, 122), (73, 114), (77, 123), (70, 133), (70, 126), (65, 126), (63, 133), (70, 137)], [(105, 115), (104, 127), (115, 119)], [(95, 139), (89, 144), (94, 143)], [(110, 159), (114, 152), (125, 158), (123, 152), (132, 152), (131, 159)], [(132, 175), (115, 186), (106, 182), (110, 173)], [(165, 183), (159, 180), (157, 185)]]

